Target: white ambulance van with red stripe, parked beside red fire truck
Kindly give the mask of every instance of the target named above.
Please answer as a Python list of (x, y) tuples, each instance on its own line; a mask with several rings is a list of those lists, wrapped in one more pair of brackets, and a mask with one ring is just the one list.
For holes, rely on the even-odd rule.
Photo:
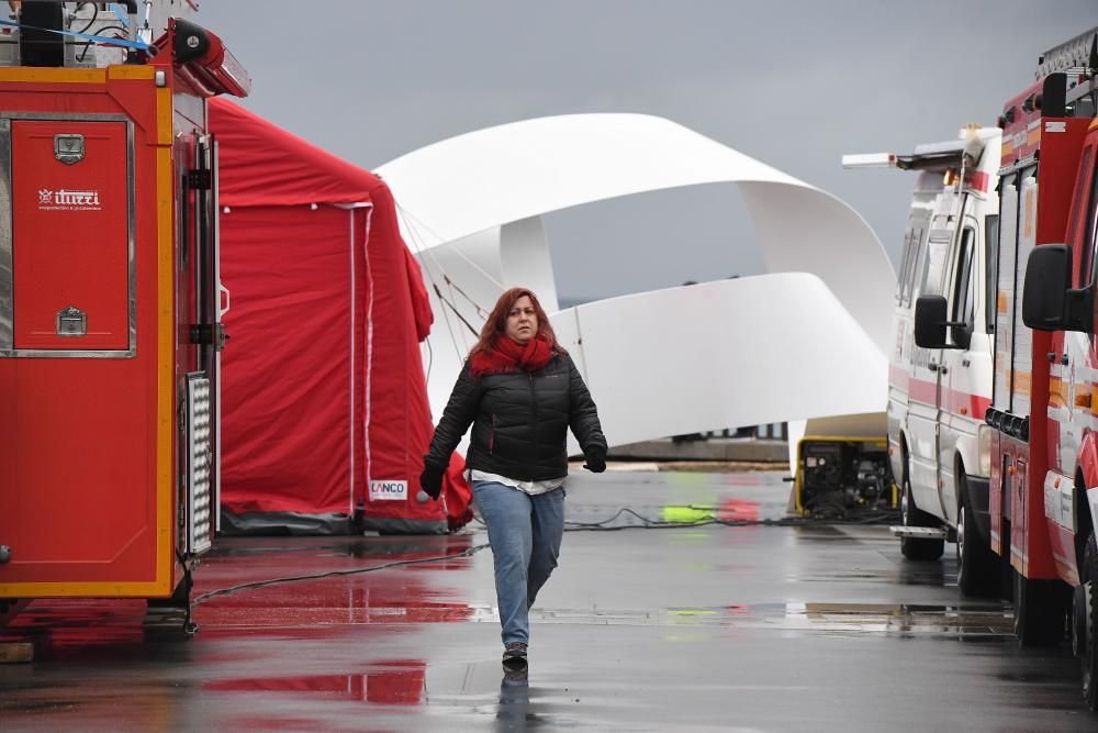
[[(888, 365), (888, 452), (903, 526), (893, 527), (910, 559), (941, 557), (957, 545), (957, 585), (994, 595), (988, 547), (990, 404), (998, 240), (997, 170), (1001, 131), (967, 125), (957, 140), (919, 145), (912, 155), (843, 156), (843, 166), (918, 173), (900, 256), (894, 345)], [(919, 296), (945, 299), (948, 348), (915, 343)]]

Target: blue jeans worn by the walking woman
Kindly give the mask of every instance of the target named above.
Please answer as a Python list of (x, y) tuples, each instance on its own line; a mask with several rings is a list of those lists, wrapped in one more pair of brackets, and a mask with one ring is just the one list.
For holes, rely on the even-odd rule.
[(564, 489), (530, 496), (495, 481), (473, 481), (473, 501), (488, 525), (495, 560), (503, 643), (527, 644), (529, 609), (560, 556)]

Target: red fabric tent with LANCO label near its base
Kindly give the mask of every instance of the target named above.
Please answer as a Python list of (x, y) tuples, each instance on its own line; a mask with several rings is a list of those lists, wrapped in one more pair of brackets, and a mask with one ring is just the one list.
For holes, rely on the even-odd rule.
[[(220, 146), (223, 530), (445, 532), (469, 503), (422, 501), (432, 324), (389, 187), (227, 100)], [(417, 499), (417, 495), (419, 495)]]

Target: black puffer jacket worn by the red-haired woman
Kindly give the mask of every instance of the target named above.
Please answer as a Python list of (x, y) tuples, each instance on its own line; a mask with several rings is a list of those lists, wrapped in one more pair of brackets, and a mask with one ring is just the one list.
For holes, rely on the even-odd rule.
[(595, 402), (568, 355), (553, 354), (534, 373), (474, 378), (467, 360), (435, 429), (424, 462), (445, 467), (469, 424), (473, 432), (466, 464), (520, 481), (568, 475), (567, 431), (584, 453), (606, 455)]

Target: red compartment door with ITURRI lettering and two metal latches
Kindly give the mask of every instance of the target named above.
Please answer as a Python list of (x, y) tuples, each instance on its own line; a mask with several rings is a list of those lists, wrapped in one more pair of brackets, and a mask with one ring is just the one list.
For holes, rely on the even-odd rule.
[(14, 348), (130, 348), (127, 123), (10, 125)]

